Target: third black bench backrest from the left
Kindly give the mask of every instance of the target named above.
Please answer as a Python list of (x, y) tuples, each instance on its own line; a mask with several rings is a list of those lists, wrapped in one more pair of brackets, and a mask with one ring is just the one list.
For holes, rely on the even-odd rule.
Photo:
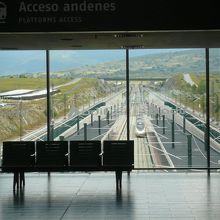
[(100, 167), (101, 141), (70, 141), (70, 166)]

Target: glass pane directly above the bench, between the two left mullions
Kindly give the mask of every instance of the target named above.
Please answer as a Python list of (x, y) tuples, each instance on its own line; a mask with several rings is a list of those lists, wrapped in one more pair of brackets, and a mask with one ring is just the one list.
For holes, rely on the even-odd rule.
[(50, 51), (50, 58), (53, 139), (122, 138), (124, 51)]

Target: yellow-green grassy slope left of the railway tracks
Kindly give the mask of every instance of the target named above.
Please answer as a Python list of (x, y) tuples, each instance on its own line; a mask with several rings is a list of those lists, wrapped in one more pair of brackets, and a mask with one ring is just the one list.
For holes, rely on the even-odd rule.
[[(70, 85), (67, 79), (51, 79), (51, 84), (63, 85), (59, 87), (59, 93), (51, 96), (52, 116), (54, 119), (65, 117), (74, 106), (80, 108), (94, 102), (94, 98), (106, 96), (106, 87), (98, 79), (83, 78)], [(14, 89), (45, 89), (45, 79), (36, 78), (3, 78), (0, 81), (0, 90), (8, 91)], [(46, 98), (20, 101), (2, 100), (11, 106), (1, 108), (0, 111), (0, 142), (18, 138), (31, 130), (46, 125), (47, 100)]]

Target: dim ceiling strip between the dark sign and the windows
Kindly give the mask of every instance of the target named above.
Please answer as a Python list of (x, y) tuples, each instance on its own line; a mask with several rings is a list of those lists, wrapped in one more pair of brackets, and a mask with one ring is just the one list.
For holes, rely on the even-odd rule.
[(220, 30), (0, 33), (0, 50), (217, 48)]

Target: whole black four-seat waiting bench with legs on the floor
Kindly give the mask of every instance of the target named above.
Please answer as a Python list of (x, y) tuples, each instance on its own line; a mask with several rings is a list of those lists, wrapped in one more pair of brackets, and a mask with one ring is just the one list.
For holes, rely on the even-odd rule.
[(3, 142), (2, 172), (13, 172), (13, 188), (24, 187), (25, 172), (114, 171), (116, 189), (122, 172), (134, 168), (134, 141)]

